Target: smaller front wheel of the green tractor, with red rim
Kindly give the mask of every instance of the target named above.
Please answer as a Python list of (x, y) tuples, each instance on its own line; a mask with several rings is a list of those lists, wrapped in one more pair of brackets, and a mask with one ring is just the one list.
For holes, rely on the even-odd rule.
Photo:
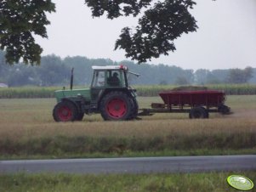
[(54, 106), (54, 121), (75, 121), (77, 120), (77, 107), (68, 101), (61, 101)]

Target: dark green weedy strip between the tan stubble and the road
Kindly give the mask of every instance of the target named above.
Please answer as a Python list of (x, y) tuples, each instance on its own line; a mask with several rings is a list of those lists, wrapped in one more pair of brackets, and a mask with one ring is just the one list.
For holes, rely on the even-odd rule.
[[(195, 130), (196, 132), (196, 130)], [(68, 157), (94, 154), (126, 156), (129, 154), (152, 153), (165, 151), (174, 155), (182, 151), (187, 155), (237, 154), (236, 150), (252, 152), (255, 147), (256, 133), (171, 133), (166, 136), (144, 137), (89, 137), (55, 135), (53, 137), (23, 138), (11, 140), (1, 138), (1, 155), (30, 157), (36, 155)], [(180, 152), (180, 153), (179, 153)], [(162, 152), (164, 153), (164, 152)]]

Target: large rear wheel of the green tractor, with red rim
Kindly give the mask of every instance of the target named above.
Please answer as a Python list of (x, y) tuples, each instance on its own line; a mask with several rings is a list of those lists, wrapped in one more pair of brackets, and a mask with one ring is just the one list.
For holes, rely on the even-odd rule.
[(132, 103), (126, 93), (120, 91), (107, 93), (100, 102), (100, 114), (106, 121), (129, 120), (133, 110)]

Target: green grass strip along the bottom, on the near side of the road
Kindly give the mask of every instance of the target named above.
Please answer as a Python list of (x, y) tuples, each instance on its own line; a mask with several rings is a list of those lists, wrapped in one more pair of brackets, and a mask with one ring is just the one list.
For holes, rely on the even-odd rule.
[[(232, 174), (256, 182), (256, 172), (218, 172), (140, 175), (9, 174), (0, 175), (0, 191), (128, 191), (222, 192), (238, 191), (226, 182)], [(254, 191), (254, 190), (250, 190)]]

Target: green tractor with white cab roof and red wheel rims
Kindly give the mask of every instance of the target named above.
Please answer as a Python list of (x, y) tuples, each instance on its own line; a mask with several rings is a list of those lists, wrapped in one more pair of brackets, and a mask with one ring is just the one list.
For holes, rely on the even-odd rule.
[(94, 77), (90, 88), (54, 92), (55, 121), (82, 121), (84, 114), (100, 113), (104, 120), (132, 120), (138, 115), (136, 90), (128, 86), (128, 73), (139, 76), (123, 65), (93, 66)]

